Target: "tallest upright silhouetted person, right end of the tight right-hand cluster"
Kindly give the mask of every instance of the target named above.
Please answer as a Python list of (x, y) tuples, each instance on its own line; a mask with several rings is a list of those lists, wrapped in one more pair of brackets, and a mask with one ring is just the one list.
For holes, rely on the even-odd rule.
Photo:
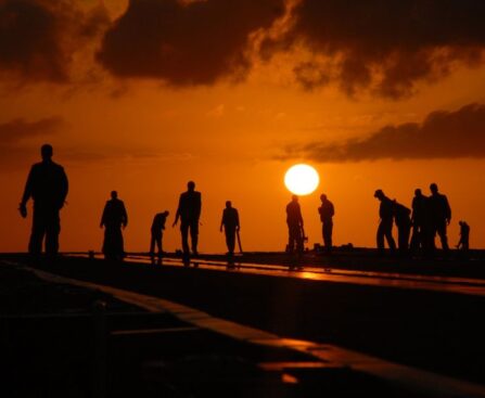
[(448, 236), (446, 235), (446, 227), (451, 221), (451, 208), (448, 198), (438, 192), (435, 183), (430, 185), (431, 196), (429, 198), (430, 216), (432, 222), (432, 247), (435, 247), (434, 239), (436, 233), (442, 241), (442, 248), (448, 251)]

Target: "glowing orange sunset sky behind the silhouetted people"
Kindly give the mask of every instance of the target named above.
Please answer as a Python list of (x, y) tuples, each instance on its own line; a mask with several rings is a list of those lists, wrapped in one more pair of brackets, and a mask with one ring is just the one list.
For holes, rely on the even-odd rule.
[[(238, 9), (241, 1), (229, 2)], [(306, 1), (312, 3), (312, 0)], [(150, 7), (152, 3), (177, 3), (175, 0), (142, 2)], [(271, 7), (278, 2), (268, 0)], [(196, 29), (196, 13), (195, 20), (188, 23), (189, 28), (195, 26), (194, 33), (188, 30), (188, 37), (175, 36), (164, 27), (166, 36), (163, 39), (171, 38), (170, 35), (175, 37), (159, 43), (163, 55), (168, 59), (151, 59), (153, 47), (141, 46), (141, 50), (137, 48), (136, 51), (138, 56), (144, 56), (142, 51), (146, 51), (146, 59), (137, 59), (131, 64), (127, 61), (129, 54), (123, 54), (124, 50), (116, 51), (122, 51), (126, 57), (118, 52), (116, 56), (110, 55), (114, 53), (103, 41), (109, 31), (122, 29), (117, 18), (130, 12), (127, 2), (79, 1), (76, 9), (79, 15), (93, 15), (93, 9), (99, 14), (103, 10), (105, 14), (104, 18), (99, 17), (101, 22), (92, 34), (84, 34), (81, 39), (73, 34), (73, 42), (60, 42), (60, 48), (68, 48), (68, 51), (62, 50), (68, 56), (54, 57), (43, 50), (29, 50), (35, 53), (30, 56), (27, 50), (42, 44), (34, 41), (30, 46), (34, 39), (26, 35), (17, 44), (26, 49), (15, 57), (5, 40), (13, 37), (9, 36), (12, 31), (16, 35), (20, 31), (15, 30), (12, 15), (22, 21), (22, 12), (26, 11), (12, 9), (11, 3), (0, 0), (0, 184), (3, 187), (0, 252), (26, 249), (30, 219), (23, 220), (16, 208), (28, 169), (38, 162), (39, 146), (44, 142), (54, 146), (54, 161), (65, 167), (71, 182), (68, 205), (62, 210), (62, 251), (101, 248), (99, 221), (111, 190), (118, 191), (128, 209), (129, 226), (125, 232), (128, 251), (148, 251), (153, 215), (165, 209), (170, 211), (165, 249), (179, 248), (180, 234), (178, 229), (171, 228), (171, 222), (178, 196), (190, 179), (202, 192), (201, 252), (226, 251), (224, 235), (218, 230), (226, 200), (231, 200), (240, 211), (244, 249), (283, 249), (288, 233), (284, 208), (291, 198), (283, 177), (285, 170), (298, 162), (315, 166), (321, 178), (317, 192), (301, 198), (310, 245), (321, 242), (317, 213), (320, 193), (326, 192), (335, 205), (334, 243), (373, 246), (379, 207), (373, 198), (374, 190), (381, 188), (390, 197), (410, 206), (416, 188), (422, 188), (426, 193), (429, 184), (436, 182), (448, 196), (454, 213), (450, 243), (458, 242), (458, 220), (464, 219), (471, 226), (471, 245), (485, 247), (482, 36), (474, 39), (454, 26), (461, 43), (458, 49), (448, 49), (446, 43), (424, 36), (418, 39), (425, 46), (412, 44), (417, 47), (414, 49), (409, 43), (421, 41), (406, 37), (400, 42), (380, 43), (381, 51), (379, 54), (375, 51), (373, 57), (369, 43), (358, 42), (357, 48), (368, 52), (356, 55), (356, 44), (352, 40), (345, 41), (350, 35), (339, 36), (337, 30), (329, 30), (326, 33), (329, 42), (324, 42), (322, 36), (318, 36), (319, 31), (311, 30), (311, 21), (308, 20), (304, 27), (298, 25), (301, 22), (297, 21), (307, 17), (305, 12), (309, 14), (304, 8), (305, 0), (296, 2), (302, 8), (289, 11), (286, 20), (283, 10), (276, 14), (275, 21), (268, 16), (272, 14), (259, 10), (259, 4), (265, 1), (250, 1), (244, 9), (247, 15), (242, 13), (241, 18), (253, 17), (251, 13), (254, 12), (251, 24), (239, 25), (234, 22), (238, 20), (228, 17), (232, 25), (237, 25), (233, 29), (239, 29), (233, 37), (242, 35), (246, 38), (242, 48), (246, 54), (243, 73), (239, 68), (230, 69), (232, 66), (219, 69), (219, 64), (227, 62), (228, 52), (237, 54), (228, 65), (239, 60), (241, 43), (229, 39), (225, 43), (225, 38), (216, 40), (217, 31), (212, 34), (214, 36), (200, 38), (208, 28)], [(52, 15), (63, 13), (60, 14), (63, 18), (68, 17), (65, 10), (51, 10), (46, 1), (30, 0), (28, 3), (44, 8)], [(208, 3), (212, 8), (204, 11), (204, 7), (209, 8)], [(334, 1), (326, 3), (333, 4)], [(431, 3), (439, 7), (438, 1)], [(199, 7), (197, 10), (203, 10), (201, 15), (214, 14), (217, 22), (229, 12), (220, 11), (220, 4), (219, 0), (206, 0), (177, 5), (182, 7), (181, 11), (176, 10), (183, 16), (177, 21), (186, 23), (186, 12), (191, 7)], [(459, 4), (457, 1), (456, 7), (460, 8)], [(318, 4), (314, 7), (318, 8)], [(478, 9), (475, 13), (482, 10)], [(342, 12), (334, 12), (337, 11)], [(469, 10), (462, 12), (468, 15)], [(353, 13), (348, 12), (349, 21), (352, 17)], [(63, 31), (63, 25), (58, 25), (56, 29)], [(23, 27), (20, 23), (18, 26)], [(225, 28), (229, 29), (229, 35), (231, 25)], [(291, 30), (293, 28), (295, 31)], [(290, 40), (284, 37), (285, 31), (290, 31), (292, 38), (302, 35), (306, 41)], [(51, 39), (56, 40), (59, 33), (52, 35)], [(260, 35), (278, 39), (265, 46), (271, 50), (255, 50), (254, 42), (247, 44), (252, 42), (250, 37), (254, 41)], [(191, 52), (192, 44), (187, 44), (189, 39), (195, 42), (194, 53)], [(374, 40), (370, 37), (369, 42), (371, 39)], [(214, 50), (205, 48), (205, 55), (197, 64), (200, 47), (206, 43), (213, 44)], [(183, 47), (182, 55), (176, 46)], [(341, 46), (347, 52), (335, 52), (332, 46)], [(390, 46), (395, 49), (390, 50)], [(268, 55), (265, 51), (271, 53)], [(400, 57), (399, 51), (407, 54), (407, 62)], [(419, 57), (422, 65), (423, 51), (432, 52), (433, 60), (443, 52), (447, 55), (438, 61), (424, 59), (431, 62), (433, 70), (420, 75), (418, 65), (410, 64)], [(212, 56), (220, 62), (213, 62)], [(322, 63), (322, 60), (336, 62), (345, 56), (350, 60), (360, 56), (359, 62), (368, 63), (372, 81), (359, 80), (355, 78), (357, 75), (344, 79), (344, 66)], [(61, 60), (66, 76), (60, 77), (62, 74), (52, 66), (58, 65), (53, 59)], [(395, 64), (388, 61), (391, 59)], [(308, 60), (311, 60), (311, 70), (308, 72), (311, 87), (308, 87), (306, 75), (302, 77), (296, 73), (302, 70), (302, 65), (309, 65)], [(144, 66), (137, 69), (137, 62), (151, 61), (154, 72), (146, 72)], [(122, 66), (118, 68), (115, 62), (122, 62)], [(179, 68), (175, 64), (174, 69), (164, 69), (164, 62), (181, 64)], [(385, 66), (387, 62), (388, 67)], [(413, 66), (412, 73), (401, 63)], [(131, 68), (127, 69), (127, 65)], [(438, 66), (441, 69), (436, 72)], [(192, 75), (192, 68), (199, 70)], [(207, 70), (202, 70), (204, 68)], [(327, 73), (330, 77), (323, 82), (322, 75)], [(405, 79), (406, 74), (409, 76)], [(387, 80), (394, 80), (384, 88), (381, 82), (387, 81), (385, 76)], [(470, 104), (476, 105), (465, 107)], [(441, 116), (444, 121), (438, 125), (433, 121), (436, 118), (429, 116), (436, 111), (444, 112)], [(394, 127), (391, 131), (394, 137), (407, 137), (407, 124), (414, 124), (412, 128), (416, 129), (416, 132), (411, 129), (416, 138), (411, 149), (405, 147), (399, 139), (391, 146), (386, 139), (366, 141), (386, 126)], [(391, 137), (386, 131), (381, 136)], [(434, 145), (430, 141), (433, 137), (443, 137), (443, 141)], [(349, 139), (363, 144), (347, 145)], [(341, 151), (342, 156), (336, 156)]]

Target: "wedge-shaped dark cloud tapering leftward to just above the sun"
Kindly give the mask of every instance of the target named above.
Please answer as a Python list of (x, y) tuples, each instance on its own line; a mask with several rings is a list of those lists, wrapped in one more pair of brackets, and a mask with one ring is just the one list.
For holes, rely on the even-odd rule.
[(422, 124), (384, 127), (365, 139), (293, 146), (283, 157), (299, 156), (323, 163), (485, 158), (485, 105), (433, 112)]

